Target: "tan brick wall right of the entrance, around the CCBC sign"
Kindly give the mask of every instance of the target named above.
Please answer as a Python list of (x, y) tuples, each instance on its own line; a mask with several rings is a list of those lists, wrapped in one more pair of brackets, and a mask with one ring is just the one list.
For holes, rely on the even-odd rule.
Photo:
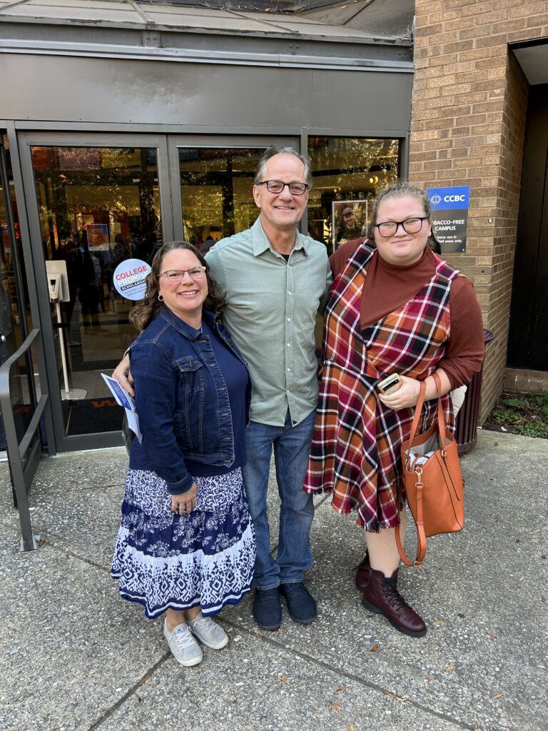
[[(487, 346), (480, 423), (501, 391), (520, 202), (528, 83), (508, 48), (548, 36), (548, 1), (416, 0), (409, 178), (471, 186), (464, 254)], [(489, 219), (492, 219), (490, 222)]]

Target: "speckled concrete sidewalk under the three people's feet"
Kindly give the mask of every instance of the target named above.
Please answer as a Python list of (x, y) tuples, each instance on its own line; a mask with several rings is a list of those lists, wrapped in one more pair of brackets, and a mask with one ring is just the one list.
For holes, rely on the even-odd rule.
[[(321, 499), (307, 579), (318, 619), (284, 613), (262, 632), (247, 598), (221, 615), (232, 642), (189, 669), (109, 575), (126, 466), (122, 449), (43, 460), (30, 503), (44, 542), (31, 553), (0, 466), (4, 731), (548, 728), (547, 441), (481, 431), (463, 458), (465, 530), (400, 570), (426, 637), (362, 608), (362, 533)], [(270, 515), (275, 535), (275, 484)]]

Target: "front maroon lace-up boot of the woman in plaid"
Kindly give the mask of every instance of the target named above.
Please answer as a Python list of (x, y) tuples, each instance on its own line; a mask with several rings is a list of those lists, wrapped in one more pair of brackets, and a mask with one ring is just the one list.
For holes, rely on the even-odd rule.
[(384, 614), (398, 632), (410, 637), (424, 637), (426, 625), (397, 592), (397, 572), (387, 577), (381, 571), (370, 569), (369, 583), (363, 592), (362, 605), (370, 612)]

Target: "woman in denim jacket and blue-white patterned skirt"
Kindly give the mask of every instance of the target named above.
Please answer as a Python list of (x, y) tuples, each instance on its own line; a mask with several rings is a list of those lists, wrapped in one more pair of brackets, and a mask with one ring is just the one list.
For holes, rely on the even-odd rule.
[(255, 536), (243, 489), (251, 383), (219, 324), (202, 254), (165, 244), (129, 319), (142, 444), (132, 442), (112, 575), (145, 615), (165, 613), (175, 659), (201, 662), (197, 639), (228, 643), (211, 618), (250, 591)]

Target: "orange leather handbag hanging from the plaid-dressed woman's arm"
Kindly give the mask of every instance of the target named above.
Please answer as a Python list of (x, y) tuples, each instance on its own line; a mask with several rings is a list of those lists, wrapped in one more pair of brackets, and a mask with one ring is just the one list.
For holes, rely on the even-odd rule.
[[(441, 381), (433, 374), (438, 393)], [(396, 529), (397, 550), (408, 566), (420, 566), (426, 555), (426, 539), (438, 533), (454, 533), (464, 526), (464, 480), (460, 471), (457, 442), (446, 431), (444, 409), (438, 398), (438, 413), (434, 423), (422, 434), (417, 434), (422, 405), (425, 403), (425, 382), (421, 382), (416, 402), (411, 434), (403, 442), (401, 459), (407, 501), (416, 523), (416, 560), (410, 561)], [(403, 495), (400, 488), (399, 499)], [(400, 502), (401, 504), (401, 502)]]

